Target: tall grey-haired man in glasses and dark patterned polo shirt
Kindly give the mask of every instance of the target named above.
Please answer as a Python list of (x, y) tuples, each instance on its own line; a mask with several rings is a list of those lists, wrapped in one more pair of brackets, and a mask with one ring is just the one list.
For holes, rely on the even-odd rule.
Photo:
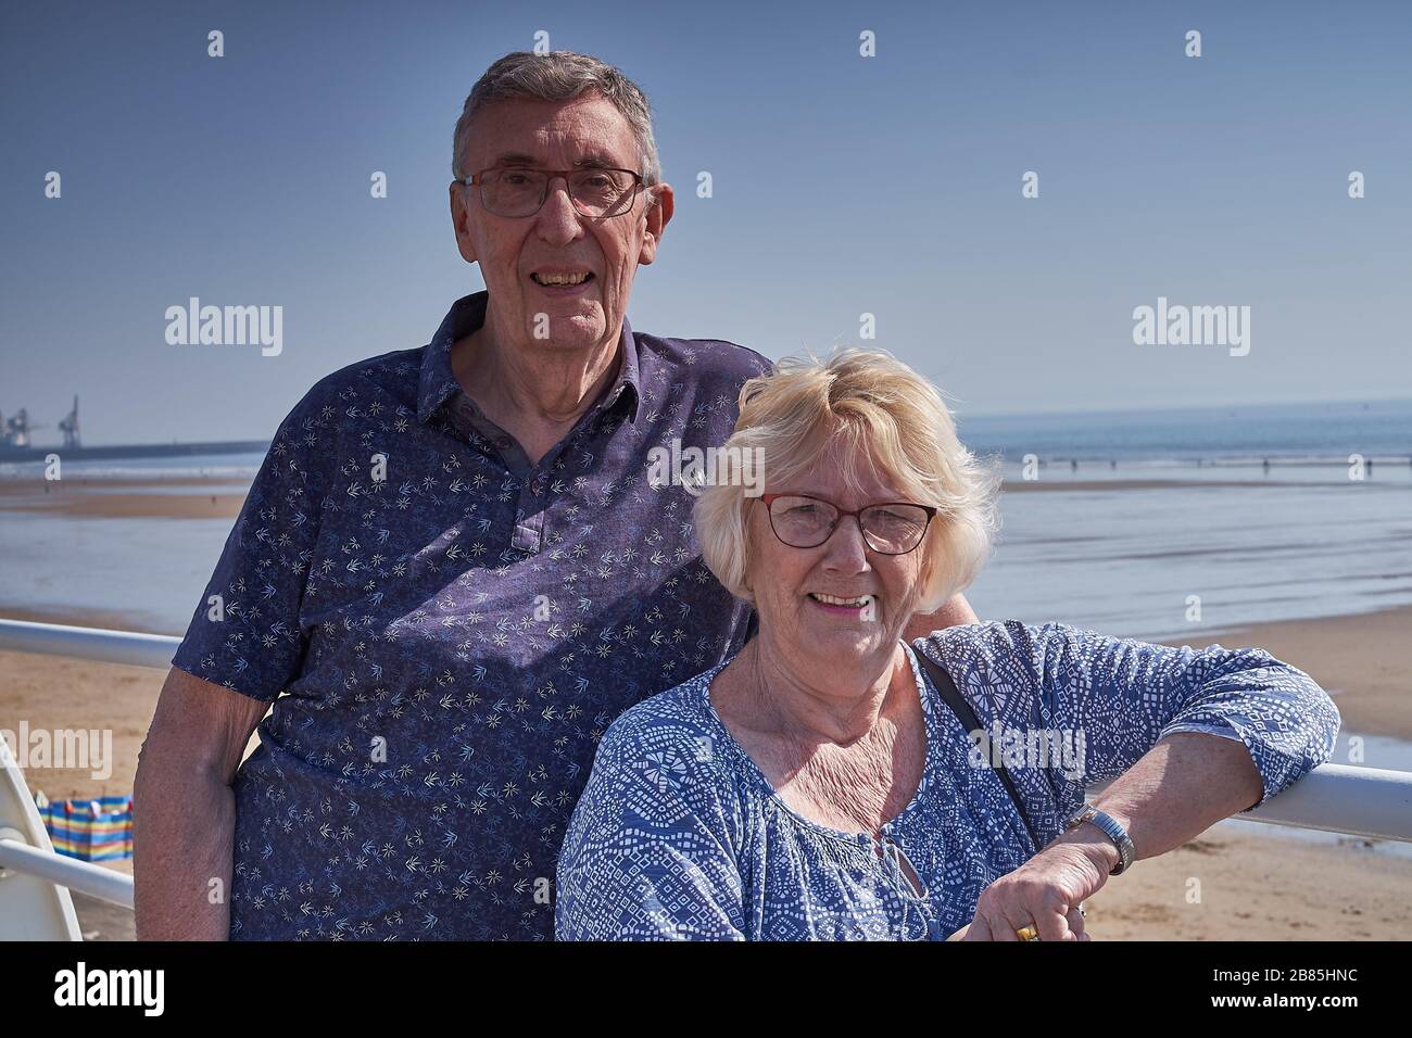
[[(647, 99), (507, 55), (453, 169), (487, 291), (281, 424), (143, 747), (140, 938), (552, 936), (597, 737), (744, 644), (696, 487), (648, 472), (722, 443), (767, 362), (628, 326), (672, 217)], [(957, 597), (915, 630), (971, 620)]]

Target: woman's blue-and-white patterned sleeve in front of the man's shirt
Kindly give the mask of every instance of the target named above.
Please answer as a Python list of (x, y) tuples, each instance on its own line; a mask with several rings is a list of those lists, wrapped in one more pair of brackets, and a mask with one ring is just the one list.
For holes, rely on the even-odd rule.
[(709, 740), (634, 708), (603, 736), (559, 854), (559, 941), (744, 941)]

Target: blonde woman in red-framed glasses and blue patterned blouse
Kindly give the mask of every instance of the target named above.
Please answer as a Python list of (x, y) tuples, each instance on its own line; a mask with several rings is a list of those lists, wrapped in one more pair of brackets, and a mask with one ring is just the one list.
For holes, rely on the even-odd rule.
[(1257, 648), (1017, 620), (902, 641), (980, 569), (995, 477), (897, 360), (750, 380), (746, 451), (765, 493), (717, 480), (696, 523), (758, 633), (604, 734), (559, 938), (1082, 941), (1108, 876), (1329, 758), (1333, 702)]

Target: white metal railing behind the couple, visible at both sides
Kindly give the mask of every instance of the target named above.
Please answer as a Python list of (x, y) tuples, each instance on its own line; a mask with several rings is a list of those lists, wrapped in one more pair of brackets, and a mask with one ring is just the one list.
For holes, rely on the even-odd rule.
[[(181, 638), (164, 634), (0, 620), (0, 650), (20, 652), (167, 669), (178, 644)], [(1269, 804), (1238, 818), (1412, 842), (1412, 772), (1324, 764)], [(131, 877), (28, 846), (16, 829), (0, 829), (3, 869), (31, 873), (128, 908), (133, 905)]]

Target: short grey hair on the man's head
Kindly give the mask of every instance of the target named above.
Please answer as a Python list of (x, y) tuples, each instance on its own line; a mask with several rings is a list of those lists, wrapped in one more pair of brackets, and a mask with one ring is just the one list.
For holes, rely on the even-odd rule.
[[(657, 160), (652, 113), (647, 95), (611, 65), (573, 51), (551, 51), (549, 54), (515, 51), (486, 69), (486, 73), (470, 89), (460, 119), (456, 120), (450, 161), (452, 175), (456, 179), (469, 175), (465, 167), (466, 141), (470, 137), (472, 121), (487, 105), (517, 99), (566, 102), (589, 92), (602, 95), (604, 100), (610, 102), (623, 113), (627, 124), (633, 129), (642, 164), (638, 169), (642, 174), (642, 182), (651, 186), (661, 181), (662, 168)], [(655, 195), (648, 195), (648, 198), (651, 203), (657, 202)]]

